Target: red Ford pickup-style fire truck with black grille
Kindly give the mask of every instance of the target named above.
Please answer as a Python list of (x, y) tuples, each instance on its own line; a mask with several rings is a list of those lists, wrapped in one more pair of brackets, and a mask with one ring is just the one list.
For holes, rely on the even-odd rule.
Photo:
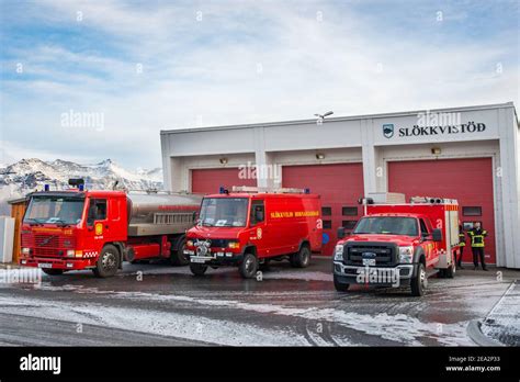
[(334, 282), (338, 291), (350, 284), (407, 285), (425, 293), (428, 277), (453, 278), (459, 250), (456, 200), (411, 198), (396, 193), (372, 194), (360, 201), (364, 216), (346, 237), (338, 229)]

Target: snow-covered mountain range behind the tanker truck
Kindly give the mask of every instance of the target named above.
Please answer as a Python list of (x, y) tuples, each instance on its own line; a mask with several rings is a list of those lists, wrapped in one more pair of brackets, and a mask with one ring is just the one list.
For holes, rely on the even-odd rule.
[(79, 165), (61, 159), (22, 159), (0, 167), (0, 215), (10, 213), (7, 204), (9, 199), (43, 190), (44, 184), (49, 184), (50, 190), (67, 189), (70, 178), (82, 178), (88, 189), (95, 190), (111, 190), (115, 181), (118, 181), (118, 187), (129, 190), (162, 189), (160, 168), (128, 171), (111, 159), (95, 165)]

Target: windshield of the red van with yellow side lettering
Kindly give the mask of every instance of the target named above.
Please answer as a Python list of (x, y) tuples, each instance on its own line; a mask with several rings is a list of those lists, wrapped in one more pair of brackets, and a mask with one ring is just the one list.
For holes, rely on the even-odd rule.
[(247, 198), (204, 198), (200, 225), (206, 227), (245, 227)]

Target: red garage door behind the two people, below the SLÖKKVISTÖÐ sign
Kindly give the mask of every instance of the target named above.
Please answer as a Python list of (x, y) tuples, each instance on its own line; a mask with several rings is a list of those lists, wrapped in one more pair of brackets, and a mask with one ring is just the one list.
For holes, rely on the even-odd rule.
[[(460, 220), (479, 221), (488, 232), (486, 260), (496, 262), (491, 158), (388, 162), (388, 191), (456, 199)], [(463, 261), (473, 261), (468, 240)]]

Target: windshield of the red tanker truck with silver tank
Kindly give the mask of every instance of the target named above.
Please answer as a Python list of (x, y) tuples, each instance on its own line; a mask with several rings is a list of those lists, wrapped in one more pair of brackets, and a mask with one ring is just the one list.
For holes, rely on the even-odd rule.
[(81, 222), (84, 199), (64, 196), (32, 198), (23, 218), (27, 224), (76, 225)]

